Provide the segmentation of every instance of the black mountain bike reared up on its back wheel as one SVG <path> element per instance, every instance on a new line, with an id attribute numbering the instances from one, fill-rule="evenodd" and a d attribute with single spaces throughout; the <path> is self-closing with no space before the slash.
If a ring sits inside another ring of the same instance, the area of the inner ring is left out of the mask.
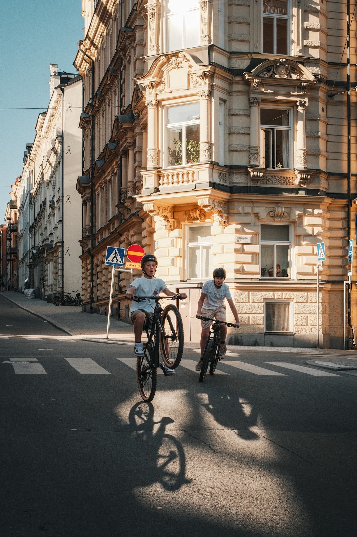
<path id="1" fill-rule="evenodd" d="M 144 401 L 152 401 L 156 391 L 157 368 L 160 367 L 165 376 L 167 368 L 175 369 L 180 364 L 183 352 L 183 325 L 180 311 L 174 304 L 162 309 L 160 300 L 180 299 L 175 296 L 136 296 L 135 302 L 154 300 L 154 317 L 150 331 L 145 329 L 147 342 L 144 344 L 144 355 L 136 360 L 136 376 L 140 395 Z M 163 365 L 159 361 L 159 351 Z"/>

